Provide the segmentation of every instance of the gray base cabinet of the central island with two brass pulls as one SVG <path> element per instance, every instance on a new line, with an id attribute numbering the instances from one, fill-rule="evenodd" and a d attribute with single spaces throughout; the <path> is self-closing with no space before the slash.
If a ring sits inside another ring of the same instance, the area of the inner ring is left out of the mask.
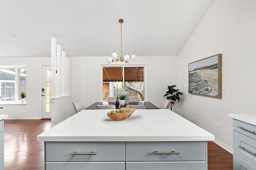
<path id="1" fill-rule="evenodd" d="M 45 142 L 46 170 L 207 170 L 207 142 Z"/>

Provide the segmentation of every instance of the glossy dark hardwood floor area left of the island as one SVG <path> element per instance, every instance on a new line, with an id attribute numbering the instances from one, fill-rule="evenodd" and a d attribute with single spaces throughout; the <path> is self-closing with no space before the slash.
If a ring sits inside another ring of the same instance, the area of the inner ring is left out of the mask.
<path id="1" fill-rule="evenodd" d="M 50 125 L 50 119 L 4 120 L 4 170 L 43 170 L 44 143 L 36 136 Z"/>

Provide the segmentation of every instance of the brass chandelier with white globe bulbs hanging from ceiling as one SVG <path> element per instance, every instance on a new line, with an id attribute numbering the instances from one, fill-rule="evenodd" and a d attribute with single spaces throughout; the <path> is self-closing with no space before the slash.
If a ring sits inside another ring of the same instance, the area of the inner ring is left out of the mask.
<path id="1" fill-rule="evenodd" d="M 122 23 L 124 22 L 123 19 L 119 19 L 119 23 L 121 24 L 121 56 L 119 57 L 117 53 L 112 53 L 111 57 L 112 58 L 108 58 L 108 63 L 112 63 L 113 61 L 121 61 L 121 62 L 125 62 L 127 64 L 130 63 L 130 59 L 135 60 L 136 59 L 136 55 L 125 55 L 124 57 L 122 56 Z"/>

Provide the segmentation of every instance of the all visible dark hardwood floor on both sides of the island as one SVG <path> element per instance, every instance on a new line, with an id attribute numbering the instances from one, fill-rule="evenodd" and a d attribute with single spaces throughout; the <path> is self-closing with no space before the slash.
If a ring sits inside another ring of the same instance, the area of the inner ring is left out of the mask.
<path id="1" fill-rule="evenodd" d="M 4 120 L 5 170 L 44 170 L 44 144 L 36 136 L 50 125 L 50 119 Z M 232 169 L 233 155 L 208 142 L 208 170 Z"/>

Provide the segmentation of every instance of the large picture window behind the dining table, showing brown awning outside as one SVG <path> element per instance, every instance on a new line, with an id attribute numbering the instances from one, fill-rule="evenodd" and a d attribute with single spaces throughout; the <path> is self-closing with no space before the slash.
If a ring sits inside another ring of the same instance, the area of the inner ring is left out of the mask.
<path id="1" fill-rule="evenodd" d="M 144 66 L 104 66 L 102 100 L 128 92 L 129 97 L 145 99 Z"/>

